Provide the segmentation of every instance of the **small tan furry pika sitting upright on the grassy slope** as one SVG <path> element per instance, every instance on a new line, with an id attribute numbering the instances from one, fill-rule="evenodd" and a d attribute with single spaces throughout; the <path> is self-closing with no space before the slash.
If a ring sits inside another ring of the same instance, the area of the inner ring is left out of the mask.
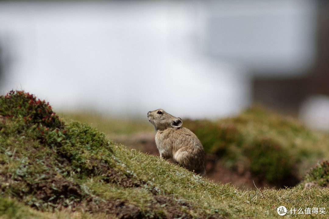
<path id="1" fill-rule="evenodd" d="M 203 146 L 193 132 L 181 127 L 181 118 L 158 109 L 149 111 L 147 119 L 155 128 L 155 143 L 160 158 L 171 158 L 186 169 L 205 175 Z"/>

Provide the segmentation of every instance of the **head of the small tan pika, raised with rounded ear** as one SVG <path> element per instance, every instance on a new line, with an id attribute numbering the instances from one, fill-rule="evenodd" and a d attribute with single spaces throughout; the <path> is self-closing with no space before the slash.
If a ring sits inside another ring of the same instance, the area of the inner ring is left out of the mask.
<path id="1" fill-rule="evenodd" d="M 181 118 L 174 117 L 162 109 L 149 111 L 147 119 L 154 126 L 155 130 L 164 130 L 171 127 L 179 128 L 183 124 Z"/>

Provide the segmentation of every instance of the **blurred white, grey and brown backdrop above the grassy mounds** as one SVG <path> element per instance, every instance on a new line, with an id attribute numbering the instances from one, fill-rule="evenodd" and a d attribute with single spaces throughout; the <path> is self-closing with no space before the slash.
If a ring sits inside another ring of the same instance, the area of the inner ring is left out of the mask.
<path id="1" fill-rule="evenodd" d="M 320 0 L 0 1 L 0 94 L 130 118 L 260 103 L 328 130 L 328 23 Z"/>

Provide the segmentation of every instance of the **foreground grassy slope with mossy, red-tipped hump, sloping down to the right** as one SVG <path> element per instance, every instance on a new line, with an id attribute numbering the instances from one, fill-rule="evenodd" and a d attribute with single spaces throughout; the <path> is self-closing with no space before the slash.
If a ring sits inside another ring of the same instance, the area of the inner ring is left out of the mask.
<path id="1" fill-rule="evenodd" d="M 279 206 L 329 202 L 320 188 L 214 184 L 89 125 L 61 120 L 22 91 L 0 97 L 0 115 L 0 218 L 281 218 Z"/>

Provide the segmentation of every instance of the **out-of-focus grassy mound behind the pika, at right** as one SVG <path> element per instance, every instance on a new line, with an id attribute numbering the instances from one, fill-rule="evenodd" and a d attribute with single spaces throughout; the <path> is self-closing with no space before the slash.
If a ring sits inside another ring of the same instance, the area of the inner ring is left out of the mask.
<path id="1" fill-rule="evenodd" d="M 329 156 L 328 135 L 260 107 L 215 122 L 183 122 L 198 136 L 206 153 L 280 187 L 295 185 L 314 163 Z"/>

